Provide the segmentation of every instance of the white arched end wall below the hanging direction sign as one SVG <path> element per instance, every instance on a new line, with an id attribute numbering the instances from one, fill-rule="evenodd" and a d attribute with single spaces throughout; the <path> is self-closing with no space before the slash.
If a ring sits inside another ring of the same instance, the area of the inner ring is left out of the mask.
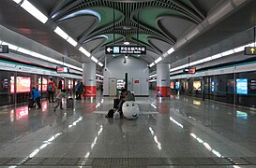
<path id="1" fill-rule="evenodd" d="M 124 78 L 128 73 L 128 91 L 133 91 L 134 80 L 140 78 L 142 82 L 141 91 L 134 92 L 135 95 L 148 95 L 148 76 L 149 69 L 147 64 L 139 59 L 128 57 L 127 63 L 124 63 L 124 57 L 113 59 L 110 63 L 107 63 L 107 69 L 103 71 L 103 95 L 109 95 L 109 78 Z"/>

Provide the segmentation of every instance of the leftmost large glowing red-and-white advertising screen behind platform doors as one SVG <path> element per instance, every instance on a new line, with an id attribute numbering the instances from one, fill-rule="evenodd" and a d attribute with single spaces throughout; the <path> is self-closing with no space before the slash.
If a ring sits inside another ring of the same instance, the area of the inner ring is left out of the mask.
<path id="1" fill-rule="evenodd" d="M 17 93 L 30 92 L 31 79 L 30 77 L 17 77 Z M 10 77 L 10 92 L 14 93 L 14 77 Z"/>

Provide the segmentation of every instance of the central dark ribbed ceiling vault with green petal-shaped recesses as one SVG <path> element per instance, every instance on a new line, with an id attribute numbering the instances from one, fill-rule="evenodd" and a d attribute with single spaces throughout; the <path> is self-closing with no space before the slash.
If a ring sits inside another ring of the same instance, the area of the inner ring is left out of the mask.
<path id="1" fill-rule="evenodd" d="M 58 11 L 53 13 L 54 21 L 59 22 L 72 16 L 81 16 L 83 12 L 98 18 L 97 25 L 92 28 L 86 24 L 79 23 L 75 28 L 77 40 L 86 44 L 89 39 L 97 36 L 108 36 L 107 41 L 102 45 L 98 44 L 96 49 L 103 49 L 105 45 L 115 44 L 116 41 L 135 42 L 135 44 L 145 45 L 149 50 L 157 54 L 162 54 L 167 49 L 159 48 L 150 38 L 160 40 L 164 46 L 173 46 L 179 35 L 188 29 L 190 25 L 196 25 L 205 18 L 203 14 L 193 6 L 190 1 L 175 0 L 155 0 L 155 1 L 113 1 L 113 0 L 79 0 L 63 3 L 58 7 Z M 169 19 L 181 21 L 177 26 L 166 25 Z M 79 20 L 77 20 L 79 21 Z M 83 21 L 84 22 L 84 21 Z M 72 23 L 63 25 L 68 30 Z M 75 24 L 76 25 L 76 24 Z M 116 36 L 111 38 L 110 36 Z M 92 49 L 92 48 L 88 48 Z"/>

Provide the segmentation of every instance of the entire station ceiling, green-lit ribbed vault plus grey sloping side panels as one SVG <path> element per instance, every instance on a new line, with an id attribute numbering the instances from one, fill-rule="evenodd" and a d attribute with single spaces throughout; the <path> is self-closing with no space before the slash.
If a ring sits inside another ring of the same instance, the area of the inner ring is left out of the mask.
<path id="1" fill-rule="evenodd" d="M 91 62 L 91 59 L 56 35 L 53 32 L 56 26 L 78 41 L 101 63 L 105 62 L 105 46 L 123 45 L 128 41 L 130 45 L 147 47 L 146 55 L 130 56 L 150 64 L 183 39 L 189 31 L 202 24 L 216 7 L 228 1 L 30 0 L 50 19 L 43 24 L 12 0 L 1 0 L 0 23 L 80 63 Z M 177 62 L 255 26 L 254 7 L 256 2 L 247 0 L 242 7 L 237 7 L 221 21 L 205 28 L 203 33 L 182 48 L 176 49 L 174 57 L 167 56 L 163 62 Z M 118 56 L 107 55 L 107 60 L 109 62 Z"/>

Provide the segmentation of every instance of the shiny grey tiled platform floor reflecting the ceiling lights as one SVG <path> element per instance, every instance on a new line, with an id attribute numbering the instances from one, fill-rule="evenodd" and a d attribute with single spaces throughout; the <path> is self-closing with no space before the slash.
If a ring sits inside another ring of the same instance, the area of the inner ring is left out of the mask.
<path id="1" fill-rule="evenodd" d="M 105 118 L 113 97 L 56 112 L 47 101 L 2 108 L 0 166 L 256 166 L 255 112 L 176 95 L 136 103 L 135 120 Z"/>

